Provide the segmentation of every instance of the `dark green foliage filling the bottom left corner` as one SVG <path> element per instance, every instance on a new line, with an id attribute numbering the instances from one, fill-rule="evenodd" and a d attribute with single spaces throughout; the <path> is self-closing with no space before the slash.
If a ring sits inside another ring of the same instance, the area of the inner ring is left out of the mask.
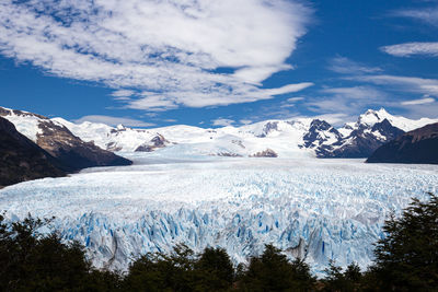
<path id="1" fill-rule="evenodd" d="M 81 245 L 37 232 L 49 222 L 28 215 L 7 224 L 0 215 L 0 291 L 112 290 L 106 288 L 117 282 L 116 276 L 92 270 Z"/>

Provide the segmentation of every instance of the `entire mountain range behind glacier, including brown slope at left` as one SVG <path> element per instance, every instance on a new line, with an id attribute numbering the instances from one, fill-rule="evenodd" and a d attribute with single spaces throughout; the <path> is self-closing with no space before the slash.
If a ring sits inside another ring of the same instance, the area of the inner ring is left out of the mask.
<path id="1" fill-rule="evenodd" d="M 49 119 L 1 107 L 0 116 L 51 155 L 73 162 L 76 168 L 126 163 L 111 152 L 152 152 L 159 149 L 181 155 L 368 157 L 401 135 L 438 122 L 438 119 L 414 120 L 393 116 L 383 108 L 369 109 L 356 122 L 347 122 L 341 128 L 312 118 L 266 120 L 216 129 L 184 125 L 136 129 L 89 121 L 78 125 L 64 118 Z M 103 150 L 97 151 L 99 148 Z M 85 153 L 81 153 L 83 149 L 87 149 Z M 100 159 L 93 160 L 96 151 Z"/>

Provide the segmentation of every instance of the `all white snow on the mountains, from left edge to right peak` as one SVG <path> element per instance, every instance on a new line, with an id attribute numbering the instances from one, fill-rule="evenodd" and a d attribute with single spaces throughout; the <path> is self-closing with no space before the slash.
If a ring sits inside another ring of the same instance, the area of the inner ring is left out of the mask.
<path id="1" fill-rule="evenodd" d="M 332 147 L 338 149 L 338 137 L 330 130 L 318 133 L 318 140 L 312 141 L 308 148 L 303 147 L 303 138 L 309 133 L 312 122 L 311 118 L 296 118 L 291 120 L 265 120 L 242 127 L 223 127 L 223 128 L 199 128 L 185 125 L 175 125 L 152 129 L 132 129 L 123 125 L 111 127 L 104 124 L 84 121 L 82 124 L 73 124 L 62 118 L 42 119 L 39 116 L 26 113 L 24 115 L 5 116 L 11 120 L 18 130 L 32 140 L 36 141 L 39 122 L 54 121 L 57 125 L 66 126 L 74 136 L 78 136 L 85 142 L 93 141 L 102 149 L 110 151 L 134 152 L 140 145 L 151 145 L 151 140 L 161 135 L 165 140 L 170 141 L 166 147 L 175 147 L 175 149 L 184 150 L 197 155 L 232 155 L 232 156 L 251 156 L 266 149 L 272 149 L 279 157 L 314 157 L 315 151 L 322 147 Z M 25 113 L 25 112 L 23 112 Z M 28 115 L 27 115 L 28 114 Z M 348 138 L 353 130 L 359 127 L 366 127 L 371 130 L 376 122 L 388 119 L 393 126 L 402 130 L 412 130 L 423 127 L 427 124 L 438 121 L 434 119 L 423 118 L 419 120 L 411 120 L 404 117 L 392 116 L 383 108 L 379 110 L 367 110 L 361 115 L 357 122 L 346 124 L 338 129 L 344 139 Z M 381 141 L 384 141 L 378 131 L 372 132 Z M 176 147 L 176 144 L 178 147 Z M 342 141 L 342 144 L 345 144 Z"/>

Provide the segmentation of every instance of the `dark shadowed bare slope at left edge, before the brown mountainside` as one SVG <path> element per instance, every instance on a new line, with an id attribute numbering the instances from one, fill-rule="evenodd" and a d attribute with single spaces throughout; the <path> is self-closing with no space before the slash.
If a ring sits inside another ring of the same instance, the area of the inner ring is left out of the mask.
<path id="1" fill-rule="evenodd" d="M 25 180 L 65 176 L 64 166 L 49 153 L 0 117 L 0 188 Z"/>

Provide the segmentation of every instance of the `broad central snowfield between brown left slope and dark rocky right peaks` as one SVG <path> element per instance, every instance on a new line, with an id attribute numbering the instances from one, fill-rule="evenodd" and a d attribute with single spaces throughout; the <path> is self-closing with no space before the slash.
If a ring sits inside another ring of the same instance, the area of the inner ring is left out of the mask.
<path id="1" fill-rule="evenodd" d="M 218 155 L 230 153 L 249 156 L 256 152 L 275 149 L 284 157 L 314 156 L 312 150 L 300 149 L 302 137 L 309 129 L 311 119 L 296 121 L 267 120 L 243 127 L 223 127 L 204 129 L 185 125 L 154 129 L 130 129 L 123 126 L 112 128 L 103 124 L 82 122 L 76 125 L 61 118 L 54 120 L 68 127 L 82 140 L 94 143 L 103 149 L 118 149 L 134 152 L 139 145 L 148 143 L 158 133 L 173 144 L 184 144 L 192 152 L 201 155 Z M 267 124 L 276 122 L 277 129 L 265 132 Z"/>

